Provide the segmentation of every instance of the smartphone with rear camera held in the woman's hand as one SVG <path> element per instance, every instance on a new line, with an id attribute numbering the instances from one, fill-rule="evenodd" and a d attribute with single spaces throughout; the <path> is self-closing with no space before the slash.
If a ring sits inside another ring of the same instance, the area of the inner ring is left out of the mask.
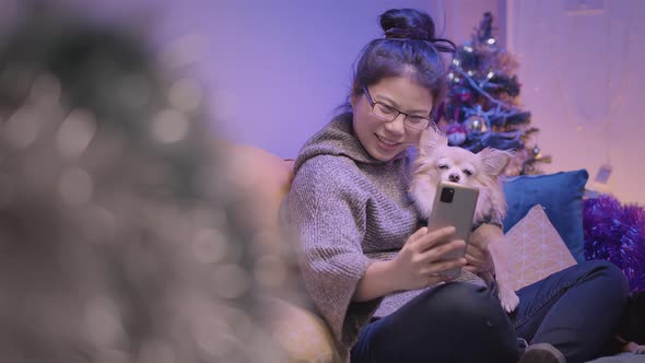
<path id="1" fill-rule="evenodd" d="M 455 238 L 464 239 L 468 243 L 478 197 L 478 188 L 449 182 L 439 183 L 434 198 L 432 213 L 427 219 L 427 230 L 435 231 L 453 225 L 457 230 Z M 465 253 L 466 250 L 455 251 L 454 254 L 446 255 L 445 258 L 459 258 Z M 459 269 L 453 269 L 444 273 L 456 278 L 460 271 Z"/>

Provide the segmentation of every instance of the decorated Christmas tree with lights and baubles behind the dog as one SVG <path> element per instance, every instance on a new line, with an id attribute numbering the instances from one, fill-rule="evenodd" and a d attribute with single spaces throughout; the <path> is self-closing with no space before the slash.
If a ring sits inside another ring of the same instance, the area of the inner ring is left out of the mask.
<path id="1" fill-rule="evenodd" d="M 520 108 L 516 59 L 497 45 L 493 16 L 485 13 L 470 42 L 457 47 L 448 73 L 449 93 L 439 127 L 452 145 L 472 152 L 515 150 L 506 175 L 540 174 L 542 155 L 531 136 L 530 113 Z"/>

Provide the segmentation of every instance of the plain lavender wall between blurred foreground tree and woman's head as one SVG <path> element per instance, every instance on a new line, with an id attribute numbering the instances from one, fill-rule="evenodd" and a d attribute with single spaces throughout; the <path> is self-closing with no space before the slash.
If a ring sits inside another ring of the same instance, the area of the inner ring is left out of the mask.
<path id="1" fill-rule="evenodd" d="M 390 8 L 430 12 L 439 35 L 470 36 L 501 0 L 57 0 L 97 21 L 134 22 L 163 57 L 206 87 L 228 139 L 283 157 L 345 101 L 360 49 Z M 0 0 L 0 23 L 21 0 Z M 446 21 L 447 20 L 447 21 Z"/>

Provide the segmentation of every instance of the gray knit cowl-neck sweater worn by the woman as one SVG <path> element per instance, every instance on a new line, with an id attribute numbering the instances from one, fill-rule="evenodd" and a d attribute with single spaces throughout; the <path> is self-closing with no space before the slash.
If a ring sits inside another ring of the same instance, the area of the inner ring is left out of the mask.
<path id="1" fill-rule="evenodd" d="M 352 302 L 370 264 L 392 258 L 422 226 L 407 192 L 409 167 L 408 152 L 389 162 L 372 157 L 354 136 L 352 114 L 327 125 L 296 159 L 282 215 L 300 234 L 304 284 L 343 349 L 373 316 L 386 316 L 423 292 Z"/>

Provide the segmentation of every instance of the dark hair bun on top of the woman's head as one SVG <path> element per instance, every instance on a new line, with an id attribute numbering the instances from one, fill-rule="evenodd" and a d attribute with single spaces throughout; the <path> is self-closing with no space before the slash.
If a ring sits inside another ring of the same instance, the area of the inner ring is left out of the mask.
<path id="1" fill-rule="evenodd" d="M 391 9 L 380 15 L 380 27 L 386 38 L 434 39 L 434 21 L 414 9 Z"/>

